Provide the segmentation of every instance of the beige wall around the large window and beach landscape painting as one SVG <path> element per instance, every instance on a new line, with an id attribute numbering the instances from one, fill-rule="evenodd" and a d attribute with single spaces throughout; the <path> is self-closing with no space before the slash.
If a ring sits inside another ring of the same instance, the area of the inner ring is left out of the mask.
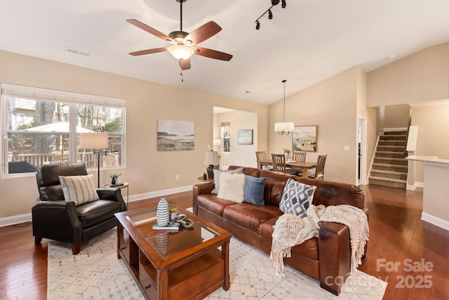
<path id="1" fill-rule="evenodd" d="M 4 51 L 0 65 L 1 82 L 126 99 L 126 168 L 119 172 L 130 183 L 130 195 L 196 183 L 205 169 L 204 152 L 213 143 L 213 106 L 257 113 L 257 141 L 267 140 L 267 105 Z M 157 119 L 194 122 L 195 150 L 158 152 Z M 100 181 L 109 181 L 112 171 L 100 171 Z M 0 178 L 0 190 L 0 218 L 31 212 L 37 195 L 34 176 Z"/>

